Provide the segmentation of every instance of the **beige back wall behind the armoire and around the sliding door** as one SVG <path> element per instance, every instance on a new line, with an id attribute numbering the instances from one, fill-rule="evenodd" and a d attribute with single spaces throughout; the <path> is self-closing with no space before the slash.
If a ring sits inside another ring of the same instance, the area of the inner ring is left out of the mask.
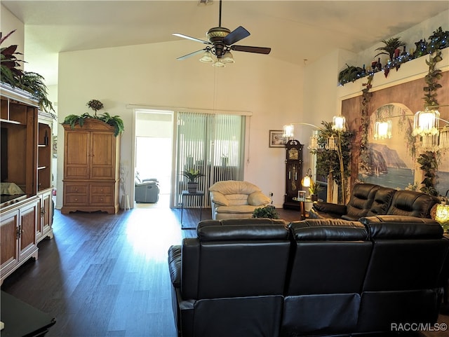
<path id="1" fill-rule="evenodd" d="M 285 150 L 269 148 L 268 136 L 269 130 L 281 130 L 302 114 L 302 67 L 239 52 L 234 53 L 236 63 L 225 69 L 203 64 L 197 57 L 175 60 L 189 48 L 189 41 L 175 41 L 60 53 L 59 121 L 83 114 L 86 102 L 100 99 L 105 111 L 125 123 L 121 160 L 131 163 L 133 110 L 128 104 L 251 111 L 245 179 L 265 193 L 274 192 L 274 204 L 282 205 Z M 58 135 L 63 144 L 61 125 Z M 62 206 L 63 151 L 58 146 L 56 207 Z"/>

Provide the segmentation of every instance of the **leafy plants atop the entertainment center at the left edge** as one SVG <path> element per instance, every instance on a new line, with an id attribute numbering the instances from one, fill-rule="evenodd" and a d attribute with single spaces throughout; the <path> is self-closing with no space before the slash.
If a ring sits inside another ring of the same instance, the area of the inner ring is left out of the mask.
<path id="1" fill-rule="evenodd" d="M 3 43 L 6 39 L 8 39 L 11 34 L 15 32 L 15 29 L 6 34 L 5 37 L 2 37 L 0 32 L 0 44 Z M 11 85 L 12 88 L 18 88 L 27 92 L 30 97 L 36 99 L 39 102 L 39 107 L 51 114 L 53 118 L 55 115 L 51 111 L 55 111 L 53 109 L 53 104 L 47 98 L 48 92 L 47 87 L 43 83 L 43 76 L 34 73 L 32 71 L 22 71 L 20 69 L 20 62 L 25 62 L 23 60 L 19 60 L 16 55 L 22 55 L 17 50 L 17 45 L 11 45 L 8 47 L 1 47 L 1 71 L 0 71 L 0 81 Z"/>

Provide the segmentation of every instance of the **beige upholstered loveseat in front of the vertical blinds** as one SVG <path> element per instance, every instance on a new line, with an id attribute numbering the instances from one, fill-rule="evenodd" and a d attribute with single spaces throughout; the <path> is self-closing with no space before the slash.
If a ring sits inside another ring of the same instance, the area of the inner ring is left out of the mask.
<path id="1" fill-rule="evenodd" d="M 212 219 L 250 218 L 254 209 L 271 202 L 260 188 L 248 181 L 217 181 L 210 186 Z"/>

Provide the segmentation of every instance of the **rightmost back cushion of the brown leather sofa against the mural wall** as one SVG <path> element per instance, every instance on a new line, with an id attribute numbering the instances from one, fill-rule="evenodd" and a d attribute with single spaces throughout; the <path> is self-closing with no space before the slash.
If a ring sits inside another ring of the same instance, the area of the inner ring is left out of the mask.
<path id="1" fill-rule="evenodd" d="M 387 214 L 430 218 L 430 209 L 437 202 L 435 197 L 421 192 L 396 191 Z"/>

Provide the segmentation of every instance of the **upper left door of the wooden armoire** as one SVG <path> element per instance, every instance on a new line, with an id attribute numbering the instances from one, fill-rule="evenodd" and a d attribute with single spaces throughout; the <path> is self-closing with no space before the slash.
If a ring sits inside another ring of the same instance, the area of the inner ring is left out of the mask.
<path id="1" fill-rule="evenodd" d="M 90 132 L 83 132 L 82 130 L 66 130 L 64 145 L 65 179 L 89 178 L 90 141 Z"/>

